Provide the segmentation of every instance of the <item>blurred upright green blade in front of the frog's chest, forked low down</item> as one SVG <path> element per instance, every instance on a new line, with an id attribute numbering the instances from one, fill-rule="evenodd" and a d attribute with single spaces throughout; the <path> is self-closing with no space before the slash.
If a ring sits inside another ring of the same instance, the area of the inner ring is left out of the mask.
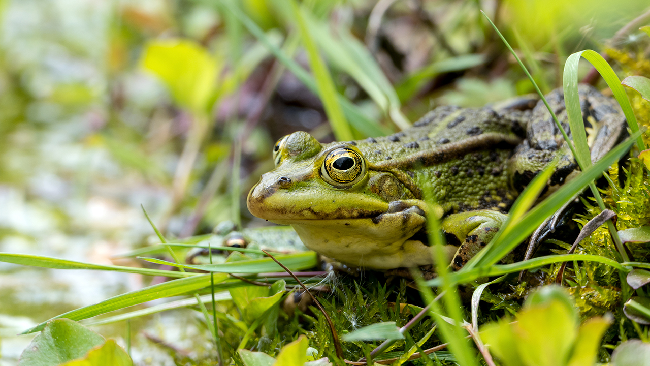
<path id="1" fill-rule="evenodd" d="M 424 193 L 424 202 L 427 205 L 428 212 L 435 212 L 435 196 L 432 192 L 432 186 L 430 182 L 421 180 L 422 192 Z M 441 307 L 437 302 L 434 302 L 434 298 L 431 296 L 431 290 L 424 290 L 422 288 L 422 279 L 421 275 L 414 273 L 413 277 L 419 279 L 418 289 L 424 298 L 424 294 L 428 296 L 425 302 L 431 304 L 431 313 L 435 315 L 436 322 L 440 327 L 441 332 L 443 333 L 444 339 L 450 343 L 450 348 L 454 354 L 458 355 L 458 363 L 461 366 L 464 365 L 477 365 L 476 357 L 474 356 L 473 350 L 469 347 L 469 344 L 464 339 L 463 330 L 461 329 L 460 324 L 463 323 L 461 316 L 461 305 L 460 298 L 458 296 L 458 291 L 456 289 L 456 284 L 452 283 L 450 280 L 450 272 L 448 268 L 448 262 L 445 260 L 446 256 L 443 254 L 443 247 L 445 246 L 445 238 L 442 236 L 442 230 L 440 223 L 435 215 L 430 215 L 429 219 L 426 220 L 426 230 L 429 236 L 429 242 L 433 243 L 432 246 L 432 255 L 434 256 L 435 264 L 435 273 L 438 274 L 438 278 L 442 280 L 442 286 L 440 292 L 443 292 L 443 301 L 445 302 L 445 309 L 448 312 L 449 317 L 452 318 L 453 324 L 441 324 L 439 321 L 441 319 Z M 424 290 L 424 292 L 423 292 Z"/>

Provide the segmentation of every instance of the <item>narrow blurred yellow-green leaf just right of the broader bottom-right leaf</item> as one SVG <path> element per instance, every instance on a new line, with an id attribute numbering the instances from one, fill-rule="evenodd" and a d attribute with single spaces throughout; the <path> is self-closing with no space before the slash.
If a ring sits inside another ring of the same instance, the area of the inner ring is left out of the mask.
<path id="1" fill-rule="evenodd" d="M 593 365 L 603 334 L 612 324 L 611 318 L 595 317 L 580 326 L 567 366 Z"/>

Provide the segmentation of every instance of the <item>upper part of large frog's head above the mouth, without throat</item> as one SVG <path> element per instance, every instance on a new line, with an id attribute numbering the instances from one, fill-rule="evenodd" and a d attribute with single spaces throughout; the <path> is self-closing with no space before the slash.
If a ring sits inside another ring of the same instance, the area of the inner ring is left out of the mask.
<path id="1" fill-rule="evenodd" d="M 248 195 L 253 215 L 276 223 L 377 216 L 388 203 L 368 190 L 369 163 L 352 144 L 322 145 L 294 132 L 273 148 L 276 169 Z"/>

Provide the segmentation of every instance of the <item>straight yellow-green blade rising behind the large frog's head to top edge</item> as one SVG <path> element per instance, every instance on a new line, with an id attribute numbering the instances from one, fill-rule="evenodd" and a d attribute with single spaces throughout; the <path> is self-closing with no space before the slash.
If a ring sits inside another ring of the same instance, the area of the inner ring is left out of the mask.
<path id="1" fill-rule="evenodd" d="M 298 29 L 300 30 L 302 45 L 304 46 L 305 51 L 307 51 L 309 67 L 316 79 L 318 95 L 320 96 L 320 100 L 322 100 L 325 113 L 330 120 L 331 130 L 334 132 L 335 138 L 339 141 L 352 140 L 354 138 L 352 135 L 352 128 L 350 128 L 348 121 L 343 115 L 343 110 L 341 109 L 341 105 L 337 98 L 338 93 L 334 86 L 334 81 L 331 78 L 330 70 L 328 70 L 327 65 L 320 57 L 316 42 L 307 27 L 305 21 L 305 8 L 298 7 L 295 0 L 289 0 L 289 3 L 291 3 L 291 8 L 293 10 L 294 21 L 296 21 Z"/>

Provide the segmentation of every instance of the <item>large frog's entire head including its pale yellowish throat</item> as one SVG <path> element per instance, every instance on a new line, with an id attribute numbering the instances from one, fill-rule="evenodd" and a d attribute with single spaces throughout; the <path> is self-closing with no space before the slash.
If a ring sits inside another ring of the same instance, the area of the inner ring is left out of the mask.
<path id="1" fill-rule="evenodd" d="M 322 145 L 295 132 L 278 140 L 273 157 L 276 168 L 248 194 L 253 215 L 292 225 L 309 249 L 348 264 L 387 269 L 430 262 L 428 250 L 413 249 L 420 242 L 405 244 L 425 223 L 421 209 L 402 201 L 415 201 L 412 193 L 354 143 Z"/>

